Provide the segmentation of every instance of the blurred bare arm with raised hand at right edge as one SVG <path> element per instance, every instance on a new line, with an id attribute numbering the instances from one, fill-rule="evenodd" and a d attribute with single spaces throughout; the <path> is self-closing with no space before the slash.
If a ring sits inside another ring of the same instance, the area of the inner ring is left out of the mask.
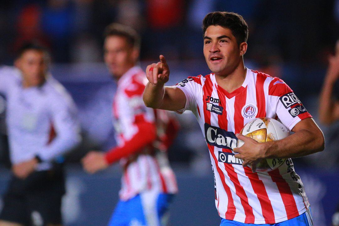
<path id="1" fill-rule="evenodd" d="M 333 89 L 339 77 L 339 40 L 336 53 L 328 59 L 328 69 L 321 89 L 319 100 L 319 119 L 325 125 L 330 125 L 339 119 L 339 101 L 333 100 Z"/>

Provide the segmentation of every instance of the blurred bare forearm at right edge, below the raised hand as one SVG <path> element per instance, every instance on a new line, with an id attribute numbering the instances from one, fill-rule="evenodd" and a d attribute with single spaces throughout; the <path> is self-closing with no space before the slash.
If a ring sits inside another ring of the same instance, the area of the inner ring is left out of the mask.
<path id="1" fill-rule="evenodd" d="M 334 82 L 325 80 L 320 93 L 319 119 L 324 124 L 330 124 L 334 121 L 334 102 L 332 100 Z"/>

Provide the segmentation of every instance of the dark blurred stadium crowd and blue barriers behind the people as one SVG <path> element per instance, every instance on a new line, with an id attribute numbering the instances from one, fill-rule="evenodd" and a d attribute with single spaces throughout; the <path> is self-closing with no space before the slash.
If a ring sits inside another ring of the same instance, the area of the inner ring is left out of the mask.
<path id="1" fill-rule="evenodd" d="M 51 50 L 51 73 L 78 106 L 83 142 L 66 156 L 66 226 L 105 225 L 118 200 L 121 170 L 117 164 L 89 176 L 79 163 L 88 150 L 107 150 L 115 144 L 111 106 L 116 84 L 102 63 L 104 27 L 119 22 L 137 29 L 142 36 L 142 67 L 163 54 L 172 85 L 187 76 L 209 73 L 202 53 L 201 21 L 211 11 L 232 11 L 245 18 L 250 29 L 245 65 L 282 78 L 324 131 L 325 151 L 294 163 L 315 225 L 330 225 L 339 202 L 339 124 L 322 125 L 317 111 L 327 56 L 339 37 L 339 0 L 2 1 L 0 64 L 12 65 L 21 44 L 39 40 Z M 4 108 L 0 97 L 1 194 L 9 178 Z M 169 150 L 180 189 L 171 207 L 171 225 L 219 225 L 211 163 L 200 128 L 193 114 L 178 119 L 181 131 Z"/>

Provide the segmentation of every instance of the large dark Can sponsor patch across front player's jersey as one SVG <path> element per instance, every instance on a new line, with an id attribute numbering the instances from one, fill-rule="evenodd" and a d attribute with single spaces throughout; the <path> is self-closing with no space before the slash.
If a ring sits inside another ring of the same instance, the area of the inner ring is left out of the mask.
<path id="1" fill-rule="evenodd" d="M 237 147 L 237 137 L 233 132 L 205 123 L 205 139 L 210 145 L 233 150 Z"/>

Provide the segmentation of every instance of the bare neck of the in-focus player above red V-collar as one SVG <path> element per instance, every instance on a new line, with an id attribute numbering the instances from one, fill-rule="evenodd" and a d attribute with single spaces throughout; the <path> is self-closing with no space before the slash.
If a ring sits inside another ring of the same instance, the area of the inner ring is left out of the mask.
<path id="1" fill-rule="evenodd" d="M 241 60 L 238 66 L 228 73 L 215 73 L 214 75 L 218 85 L 225 89 L 228 93 L 232 93 L 245 81 L 246 67 L 244 66 L 244 61 Z"/>

